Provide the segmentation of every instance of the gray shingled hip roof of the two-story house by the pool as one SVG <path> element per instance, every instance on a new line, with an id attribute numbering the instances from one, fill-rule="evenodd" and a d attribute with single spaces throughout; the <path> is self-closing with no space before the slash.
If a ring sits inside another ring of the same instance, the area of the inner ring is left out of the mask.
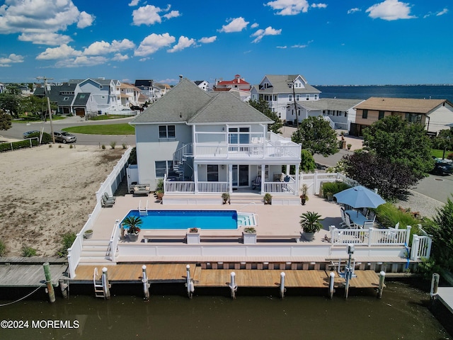
<path id="1" fill-rule="evenodd" d="M 131 124 L 139 123 L 273 123 L 263 113 L 229 93 L 211 94 L 182 79 Z"/>

